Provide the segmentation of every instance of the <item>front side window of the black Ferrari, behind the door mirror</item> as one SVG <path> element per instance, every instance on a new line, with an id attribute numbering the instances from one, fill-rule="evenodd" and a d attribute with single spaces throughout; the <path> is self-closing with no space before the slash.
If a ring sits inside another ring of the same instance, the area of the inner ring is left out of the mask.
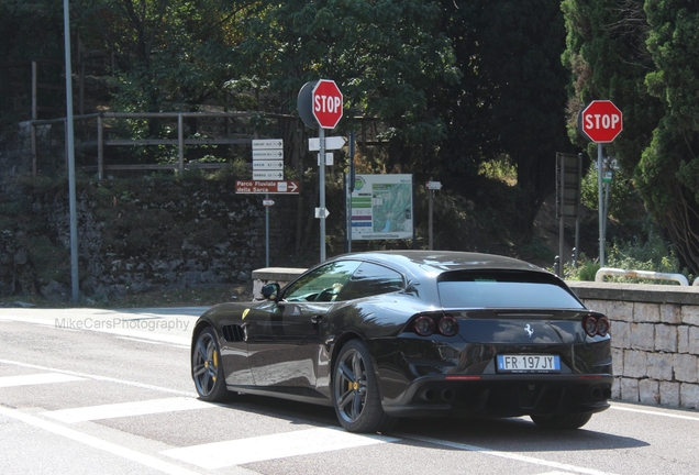
<path id="1" fill-rule="evenodd" d="M 359 264 L 358 261 L 339 261 L 318 267 L 291 284 L 282 298 L 286 301 L 335 301 Z"/>

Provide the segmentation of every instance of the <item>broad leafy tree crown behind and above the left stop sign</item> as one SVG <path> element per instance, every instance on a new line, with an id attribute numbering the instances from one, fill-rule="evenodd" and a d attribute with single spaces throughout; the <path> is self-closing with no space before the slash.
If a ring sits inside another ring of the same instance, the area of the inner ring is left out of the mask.
<path id="1" fill-rule="evenodd" d="M 420 172 L 446 132 L 435 87 L 458 80 L 440 20 L 437 3 L 417 0 L 263 1 L 244 21 L 240 82 L 275 91 L 293 112 L 306 81 L 332 78 L 353 110 L 385 124 L 387 168 Z"/>

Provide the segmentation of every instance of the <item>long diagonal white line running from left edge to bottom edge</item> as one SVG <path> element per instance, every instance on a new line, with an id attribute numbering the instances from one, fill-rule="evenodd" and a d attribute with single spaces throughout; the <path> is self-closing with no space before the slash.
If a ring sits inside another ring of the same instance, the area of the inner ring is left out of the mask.
<path id="1" fill-rule="evenodd" d="M 24 412 L 21 412 L 16 409 L 9 409 L 0 406 L 0 415 L 5 416 L 8 418 L 12 418 L 30 426 L 34 426 L 36 428 L 43 429 L 45 431 L 55 433 L 57 435 L 65 437 L 67 439 L 71 439 L 76 442 L 79 442 L 85 445 L 92 446 L 95 449 L 99 449 L 106 452 L 109 452 L 113 455 L 120 456 L 122 459 L 127 459 L 130 461 L 140 463 L 141 465 L 145 465 L 147 467 L 167 473 L 173 475 L 197 475 L 196 472 L 188 471 L 186 468 L 179 467 L 177 465 L 173 465 L 171 463 L 162 461 L 151 455 L 146 455 L 141 452 L 136 452 L 134 450 L 127 449 L 125 446 L 118 445 L 112 442 L 108 442 L 101 439 L 98 439 L 92 435 L 88 435 L 81 432 L 78 432 L 73 429 L 68 429 L 66 427 L 59 426 L 55 422 L 47 421 L 45 419 L 37 418 L 35 416 L 31 416 Z M 249 473 L 249 472 L 248 472 Z"/>

